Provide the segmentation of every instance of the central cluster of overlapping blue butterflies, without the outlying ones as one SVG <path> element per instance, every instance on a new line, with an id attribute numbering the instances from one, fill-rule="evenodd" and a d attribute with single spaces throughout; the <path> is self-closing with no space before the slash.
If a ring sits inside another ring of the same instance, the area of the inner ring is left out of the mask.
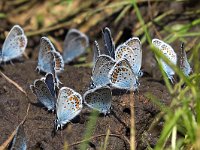
<path id="1" fill-rule="evenodd" d="M 55 53 L 53 45 L 47 38 L 41 39 L 37 69 L 47 74 L 45 77 L 35 80 L 31 85 L 31 90 L 44 107 L 49 111 L 56 111 L 55 126 L 57 130 L 62 129 L 81 112 L 83 103 L 100 113 L 108 114 L 112 101 L 111 87 L 126 90 L 138 88 L 138 78 L 142 75 L 140 71 L 142 63 L 140 40 L 136 37 L 131 38 L 115 50 L 108 28 L 103 30 L 103 38 L 105 43 L 103 53 L 101 53 L 98 43 L 95 42 L 92 81 L 83 97 L 71 88 L 59 89 L 60 81 L 55 75 L 62 71 L 62 57 L 57 52 Z M 48 45 L 48 47 L 44 45 Z M 54 59 L 48 57 L 51 59 L 49 61 L 46 55 L 51 52 Z M 51 65 L 51 63 L 55 65 Z"/>

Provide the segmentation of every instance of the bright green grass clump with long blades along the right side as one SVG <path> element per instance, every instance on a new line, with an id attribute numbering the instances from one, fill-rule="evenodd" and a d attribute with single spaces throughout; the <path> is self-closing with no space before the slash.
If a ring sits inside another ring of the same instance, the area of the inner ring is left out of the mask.
<path id="1" fill-rule="evenodd" d="M 160 149 L 200 149 L 199 145 L 199 124 L 200 124 L 200 74 L 199 74 L 199 45 L 192 48 L 192 61 L 194 62 L 194 72 L 190 77 L 186 77 L 183 72 L 175 65 L 173 65 L 161 52 L 152 47 L 151 37 L 149 35 L 147 26 L 141 16 L 139 8 L 135 0 L 132 1 L 137 15 L 137 18 L 142 26 L 145 34 L 145 39 L 159 63 L 159 58 L 162 58 L 173 70 L 176 72 L 180 81 L 172 86 L 167 79 L 166 74 L 161 69 L 165 84 L 172 95 L 172 102 L 170 106 L 162 106 L 155 97 L 150 97 L 161 108 L 161 113 L 164 113 L 164 127 L 162 129 L 159 140 L 155 150 Z M 198 37 L 199 33 L 189 32 L 190 29 L 199 24 L 199 19 L 191 23 L 179 25 L 172 30 L 171 27 L 166 27 L 165 30 L 170 34 L 165 38 L 168 42 L 177 39 L 187 41 L 184 39 L 187 36 Z M 174 26 L 175 27 L 175 26 Z M 159 63 L 160 64 L 160 63 Z M 183 86 L 185 83 L 185 86 Z M 149 149 L 151 149 L 149 147 Z"/>

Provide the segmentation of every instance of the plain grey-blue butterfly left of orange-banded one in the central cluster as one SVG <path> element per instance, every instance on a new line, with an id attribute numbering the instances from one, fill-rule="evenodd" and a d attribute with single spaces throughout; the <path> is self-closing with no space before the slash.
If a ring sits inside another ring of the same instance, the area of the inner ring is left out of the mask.
<path id="1" fill-rule="evenodd" d="M 114 66 L 115 61 L 110 56 L 100 55 L 97 57 L 94 68 L 92 70 L 92 85 L 91 88 L 96 86 L 105 86 L 110 83 L 108 72 Z"/>

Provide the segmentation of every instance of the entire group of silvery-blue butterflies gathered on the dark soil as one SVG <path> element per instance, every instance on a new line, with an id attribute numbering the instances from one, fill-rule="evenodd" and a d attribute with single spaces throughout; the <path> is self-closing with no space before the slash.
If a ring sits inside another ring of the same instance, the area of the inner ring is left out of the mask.
<path id="1" fill-rule="evenodd" d="M 58 74 L 64 70 L 64 64 L 73 61 L 85 53 L 89 45 L 88 37 L 76 29 L 71 29 L 64 41 L 63 54 L 55 50 L 47 37 L 40 40 L 37 70 L 45 72 L 45 77 L 37 79 L 30 86 L 38 101 L 49 111 L 56 111 L 55 127 L 58 130 L 75 118 L 84 104 L 103 114 L 108 114 L 112 102 L 112 88 L 135 91 L 142 77 L 142 47 L 139 38 L 132 37 L 115 48 L 109 28 L 104 28 L 104 47 L 94 42 L 94 66 L 91 83 L 83 97 L 75 90 L 62 87 Z M 177 65 L 177 55 L 167 43 L 153 39 L 152 44 Z M 0 51 L 0 61 L 11 61 L 20 57 L 26 48 L 27 38 L 23 29 L 15 25 L 9 32 Z M 182 48 L 180 68 L 185 75 L 192 71 L 185 50 Z M 173 82 L 175 72 L 162 59 L 161 65 L 168 78 Z"/>

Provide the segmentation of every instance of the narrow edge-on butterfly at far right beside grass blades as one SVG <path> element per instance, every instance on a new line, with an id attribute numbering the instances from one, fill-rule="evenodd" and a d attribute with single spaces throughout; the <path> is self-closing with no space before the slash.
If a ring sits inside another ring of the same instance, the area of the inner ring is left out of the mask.
<path id="1" fill-rule="evenodd" d="M 184 49 L 184 43 L 181 44 L 181 54 L 180 54 L 180 69 L 186 76 L 192 72 L 192 68 L 187 60 L 187 55 Z"/>

